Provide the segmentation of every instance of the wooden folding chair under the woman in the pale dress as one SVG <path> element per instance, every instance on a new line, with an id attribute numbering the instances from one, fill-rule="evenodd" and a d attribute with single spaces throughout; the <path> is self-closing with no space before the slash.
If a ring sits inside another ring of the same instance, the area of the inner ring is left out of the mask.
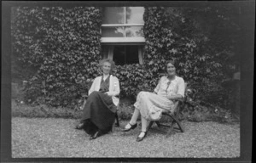
<path id="1" fill-rule="evenodd" d="M 187 83 L 185 83 L 185 94 L 186 94 L 186 91 L 187 91 Z M 181 125 L 181 122 L 179 121 L 180 109 L 183 106 L 183 100 L 184 100 L 184 98 L 177 99 L 174 102 L 173 113 L 171 111 L 167 111 L 167 110 L 162 112 L 162 115 L 166 115 L 167 117 L 171 118 L 171 122 L 169 122 L 169 125 L 161 124 L 160 121 L 150 121 L 148 124 L 148 127 L 147 127 L 147 132 L 151 128 L 151 126 L 153 125 L 154 122 L 156 123 L 156 125 L 158 127 L 161 127 L 161 126 L 169 127 L 169 130 L 166 133 L 166 137 L 171 135 L 172 132 L 174 132 L 174 129 L 177 129 L 180 132 L 184 132 L 183 126 Z M 174 127 L 175 124 L 177 124 L 177 127 Z"/>

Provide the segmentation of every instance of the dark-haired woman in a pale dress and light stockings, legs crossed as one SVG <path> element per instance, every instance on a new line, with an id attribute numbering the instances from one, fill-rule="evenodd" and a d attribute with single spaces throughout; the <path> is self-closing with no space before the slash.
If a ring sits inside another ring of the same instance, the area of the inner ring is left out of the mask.
<path id="1" fill-rule="evenodd" d="M 173 112 L 172 100 L 184 97 L 185 83 L 182 77 L 176 76 L 174 61 L 166 63 L 167 76 L 162 76 L 154 89 L 154 93 L 140 92 L 134 104 L 135 110 L 131 121 L 125 126 L 123 132 L 128 132 L 137 127 L 137 118 L 141 115 L 142 132 L 137 137 L 137 142 L 142 141 L 147 135 L 148 121 L 160 120 L 164 110 Z"/>

